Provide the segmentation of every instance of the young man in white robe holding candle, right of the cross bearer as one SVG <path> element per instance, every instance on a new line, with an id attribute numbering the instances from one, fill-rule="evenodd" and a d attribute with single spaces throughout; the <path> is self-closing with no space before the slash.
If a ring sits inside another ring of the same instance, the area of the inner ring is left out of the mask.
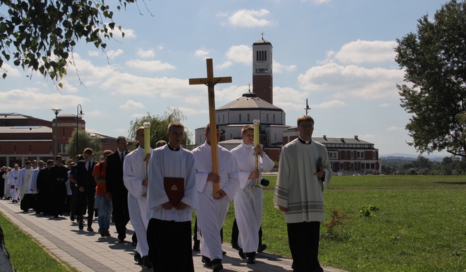
<path id="1" fill-rule="evenodd" d="M 259 228 L 262 223 L 262 198 L 264 192 L 261 187 L 255 187 L 256 178 L 262 178 L 262 171 L 271 171 L 273 161 L 262 150 L 257 143 L 253 148 L 254 127 L 244 126 L 241 129 L 243 142 L 232 149 L 233 158 L 236 160 L 239 170 L 239 190 L 234 196 L 234 214 L 239 229 L 239 255 L 246 254 L 248 264 L 255 263 L 256 250 L 259 247 Z M 256 143 L 254 143 L 256 144 Z M 255 161 L 258 155 L 258 168 L 255 171 Z"/>

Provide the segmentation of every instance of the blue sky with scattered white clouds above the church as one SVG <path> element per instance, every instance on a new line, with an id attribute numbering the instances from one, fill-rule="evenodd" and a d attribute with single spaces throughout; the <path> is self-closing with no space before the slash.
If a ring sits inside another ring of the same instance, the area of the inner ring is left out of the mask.
<path id="1" fill-rule="evenodd" d="M 207 87 L 188 79 L 206 77 L 205 59 L 212 58 L 214 76 L 232 77 L 216 85 L 216 108 L 238 99 L 252 84 L 252 44 L 264 33 L 273 45 L 273 104 L 286 112 L 287 125 L 296 126 L 308 99 L 315 137 L 358 135 L 379 154 L 416 155 L 407 144 L 410 114 L 400 105 L 396 84 L 403 84 L 403 70 L 394 47 L 417 31 L 417 19 L 432 19 L 445 2 L 139 0 L 114 8 L 124 37 L 115 31 L 106 53 L 77 44 L 62 89 L 4 62 L 0 112 L 52 120 L 52 108 L 77 114 L 81 105 L 86 130 L 118 137 L 128 136 L 130 121 L 147 112 L 177 108 L 194 134 L 209 121 Z"/>

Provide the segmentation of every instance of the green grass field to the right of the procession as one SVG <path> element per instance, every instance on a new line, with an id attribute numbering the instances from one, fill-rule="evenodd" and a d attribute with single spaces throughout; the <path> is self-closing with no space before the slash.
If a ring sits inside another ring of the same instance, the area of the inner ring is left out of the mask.
<path id="1" fill-rule="evenodd" d="M 291 257 L 281 212 L 273 208 L 275 177 L 264 191 L 266 251 Z M 344 225 L 321 225 L 319 260 L 348 271 L 466 271 L 464 176 L 334 176 L 324 192 L 326 222 L 332 210 Z M 375 216 L 360 216 L 375 205 Z M 224 226 L 231 239 L 233 205 Z"/>

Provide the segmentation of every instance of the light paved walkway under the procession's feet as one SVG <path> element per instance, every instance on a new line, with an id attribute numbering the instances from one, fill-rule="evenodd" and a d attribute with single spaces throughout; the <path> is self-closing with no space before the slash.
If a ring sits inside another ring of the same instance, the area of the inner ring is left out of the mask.
<path id="1" fill-rule="evenodd" d="M 78 271 L 152 271 L 134 262 L 134 246 L 131 246 L 133 228 L 127 230 L 127 242 L 118 243 L 115 226 L 111 226 L 111 237 L 101 238 L 97 232 L 78 230 L 78 225 L 69 217 L 54 219 L 50 216 L 36 216 L 34 212 L 23 213 L 19 203 L 0 200 L 0 210 L 24 232 L 37 239 L 63 262 L 67 262 Z M 98 228 L 97 219 L 93 228 Z M 86 229 L 86 228 L 85 228 Z M 5 237 L 8 239 L 8 237 Z M 7 248 L 8 249 L 8 248 Z M 238 251 L 230 244 L 223 244 L 227 255 L 223 257 L 222 271 L 292 271 L 291 260 L 258 253 L 255 264 L 246 264 L 241 260 Z M 193 251 L 195 271 L 212 271 L 202 265 L 200 253 Z M 326 272 L 342 272 L 341 270 L 324 267 Z"/>

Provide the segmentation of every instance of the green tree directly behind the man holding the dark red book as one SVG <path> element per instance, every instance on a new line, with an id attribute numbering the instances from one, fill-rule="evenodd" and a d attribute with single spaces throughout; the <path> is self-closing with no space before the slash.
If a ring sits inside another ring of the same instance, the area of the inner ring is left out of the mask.
<path id="1" fill-rule="evenodd" d="M 170 109 L 166 112 L 163 112 L 163 115 L 151 115 L 150 112 L 147 112 L 147 115 L 136 118 L 136 120 L 129 122 L 129 139 L 136 138 L 136 128 L 139 126 L 143 126 L 145 122 L 150 122 L 150 146 L 152 148 L 155 147 L 157 141 L 163 139 L 164 141 L 168 142 L 167 138 L 167 128 L 171 122 L 179 121 L 182 122 L 186 120 L 183 113 L 180 112 L 177 108 Z M 187 129 L 184 128 L 184 139 L 182 141 L 182 145 L 186 148 L 190 148 L 193 142 L 191 142 L 192 133 Z"/>

